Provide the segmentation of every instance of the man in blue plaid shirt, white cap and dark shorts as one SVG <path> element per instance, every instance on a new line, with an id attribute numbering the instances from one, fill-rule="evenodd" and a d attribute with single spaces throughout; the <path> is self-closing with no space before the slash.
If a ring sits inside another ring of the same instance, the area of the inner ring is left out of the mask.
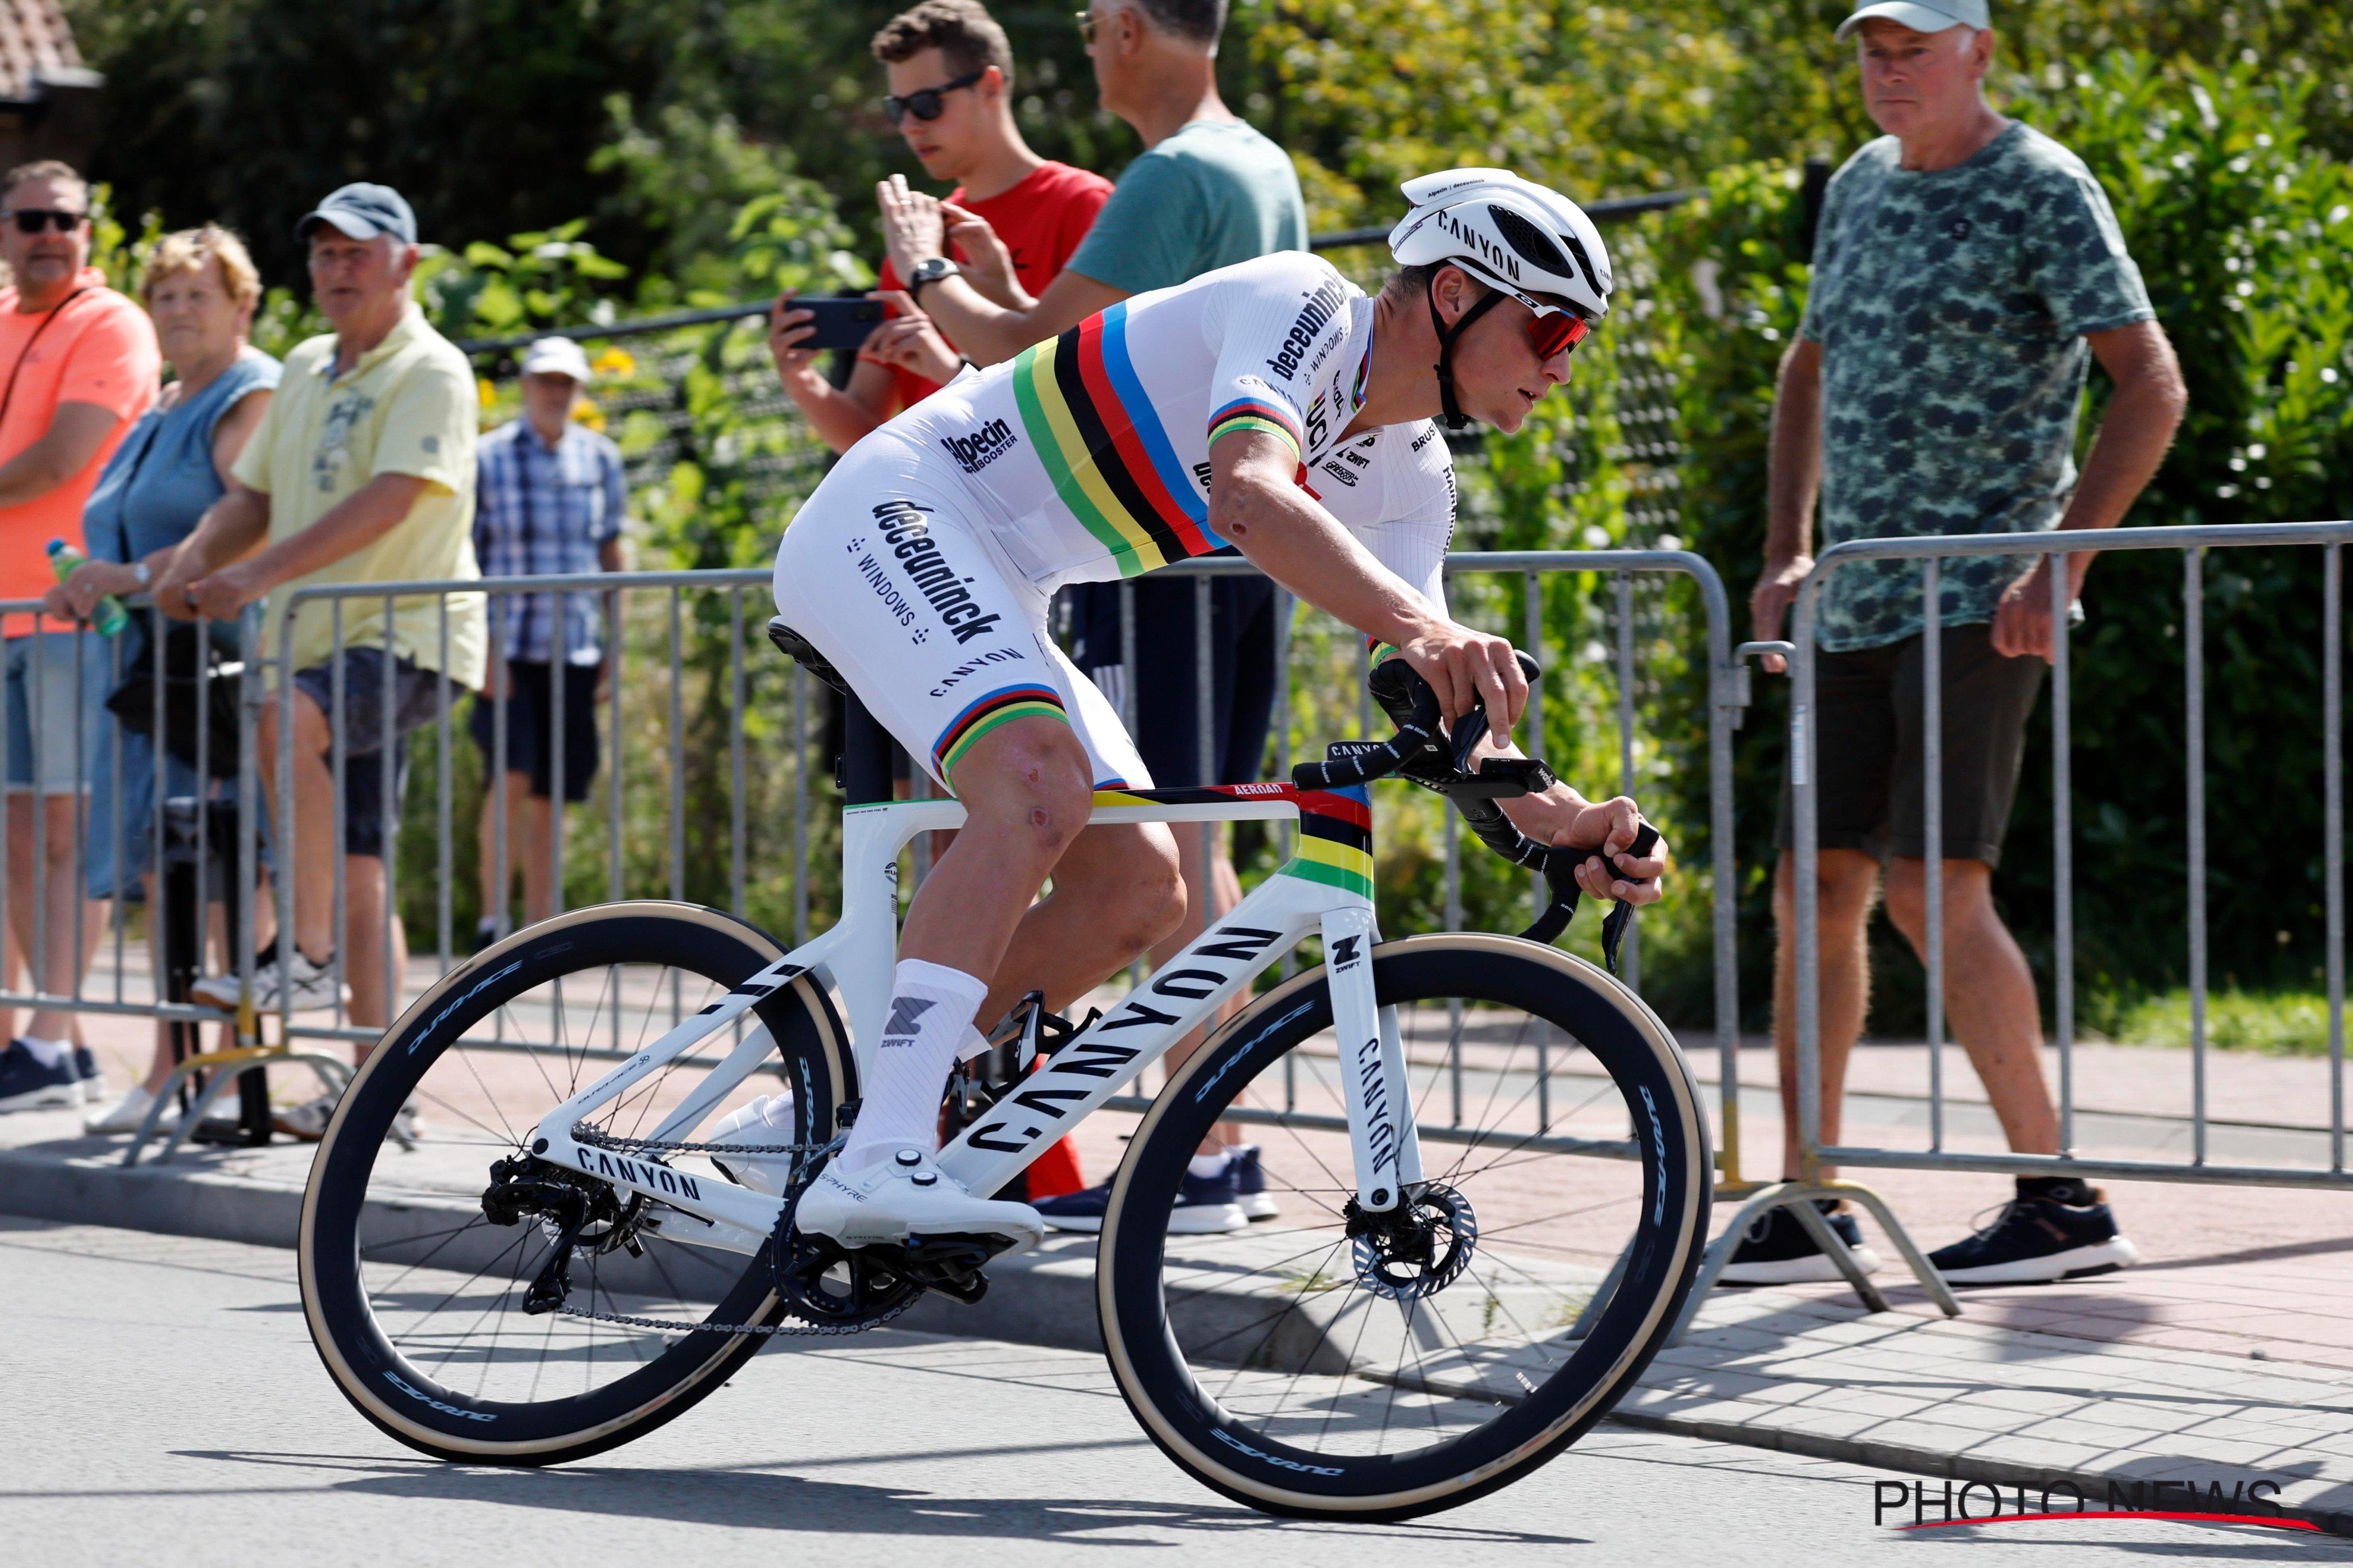
<path id="1" fill-rule="evenodd" d="M 572 421 L 588 388 L 588 355 L 572 339 L 539 339 L 522 355 L 522 418 L 482 437 L 473 548 L 482 576 L 621 571 L 628 489 L 621 449 Z M 595 705 L 612 691 L 607 595 L 492 595 L 489 682 L 473 705 L 485 773 L 499 769 L 504 691 L 506 773 L 482 797 L 482 922 L 475 950 L 506 929 L 513 867 L 529 919 L 553 910 L 551 816 L 558 726 L 565 799 L 588 799 L 598 769 Z M 558 686 L 558 682 L 562 682 Z M 499 853 L 499 818 L 506 853 Z"/>

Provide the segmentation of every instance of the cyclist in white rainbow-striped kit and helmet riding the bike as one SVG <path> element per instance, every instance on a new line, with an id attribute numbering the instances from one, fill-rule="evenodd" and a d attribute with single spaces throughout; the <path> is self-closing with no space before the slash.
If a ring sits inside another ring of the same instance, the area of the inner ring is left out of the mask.
<path id="1" fill-rule="evenodd" d="M 1609 256 L 1574 202 L 1508 169 L 1405 197 L 1379 296 L 1306 252 L 1139 294 L 878 428 L 786 531 L 779 614 L 967 811 L 908 907 L 864 1105 L 802 1232 L 1035 1244 L 1035 1208 L 932 1164 L 948 1067 L 976 1018 L 1028 990 L 1068 1006 L 1184 917 L 1167 825 L 1087 825 L 1094 790 L 1151 778 L 1047 637 L 1054 588 L 1233 543 L 1405 658 L 1449 719 L 1485 698 L 1482 748 L 1508 755 L 1527 682 L 1504 637 L 1447 618 L 1454 470 L 1431 416 L 1518 430 L 1609 308 Z M 1631 799 L 1553 785 L 1506 811 L 1591 846 L 1588 893 L 1659 898 L 1666 849 L 1624 853 Z"/>

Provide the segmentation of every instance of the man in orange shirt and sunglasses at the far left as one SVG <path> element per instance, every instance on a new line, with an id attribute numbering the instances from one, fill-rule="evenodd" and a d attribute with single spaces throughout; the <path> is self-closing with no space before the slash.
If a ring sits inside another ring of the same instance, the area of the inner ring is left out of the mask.
<path id="1" fill-rule="evenodd" d="M 155 327 L 89 266 L 89 186 L 47 160 L 0 179 L 0 599 L 40 599 L 56 581 L 47 545 L 82 548 L 82 503 L 122 433 L 155 397 Z M 49 623 L 54 625 L 54 623 Z M 75 804 L 82 726 L 106 658 L 92 632 L 35 630 L 0 616 L 7 701 L 7 983 L 64 997 L 99 945 L 106 905 L 82 898 Z M 33 799 L 40 797 L 35 809 Z M 14 1034 L 14 1016 L 0 1018 Z M 96 1063 L 73 1046 L 73 1016 L 33 1013 L 0 1051 L 0 1112 L 75 1105 Z"/>

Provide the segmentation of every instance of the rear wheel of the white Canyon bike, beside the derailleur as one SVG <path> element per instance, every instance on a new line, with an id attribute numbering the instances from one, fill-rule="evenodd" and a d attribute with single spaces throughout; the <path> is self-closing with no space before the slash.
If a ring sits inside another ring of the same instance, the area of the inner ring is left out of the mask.
<path id="1" fill-rule="evenodd" d="M 393 1025 L 336 1107 L 301 1215 L 311 1338 L 367 1420 L 447 1460 L 574 1460 L 687 1410 L 762 1345 L 607 1319 L 776 1324 L 786 1309 L 765 1241 L 715 1246 L 685 1211 L 536 1166 L 598 1215 L 572 1253 L 567 1305 L 605 1316 L 525 1312 L 558 1225 L 499 1204 L 485 1213 L 485 1187 L 492 1166 L 527 1161 L 546 1112 L 779 957 L 762 931 L 715 910 L 602 905 L 482 952 Z M 600 1107 L 595 1128 L 649 1135 L 758 1025 L 774 1039 L 762 1072 L 701 1126 L 758 1093 L 791 1093 L 779 1140 L 831 1135 L 849 1048 L 809 976 Z M 701 1154 L 659 1159 L 729 1180 Z"/>

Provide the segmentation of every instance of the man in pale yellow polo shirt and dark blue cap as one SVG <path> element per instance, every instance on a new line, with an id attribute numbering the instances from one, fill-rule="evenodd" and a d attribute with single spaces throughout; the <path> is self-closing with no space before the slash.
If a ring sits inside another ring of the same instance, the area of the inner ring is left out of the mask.
<path id="1" fill-rule="evenodd" d="M 292 940 L 261 954 L 254 1001 L 275 1009 L 332 1009 L 334 931 L 334 684 L 344 684 L 344 943 L 351 1023 L 384 1027 L 407 961 L 400 922 L 386 931 L 386 825 L 400 816 L 402 736 L 435 712 L 447 677 L 482 684 L 487 616 L 482 595 L 449 597 L 447 644 L 438 597 L 344 599 L 341 661 L 334 609 L 308 602 L 282 628 L 287 597 L 313 583 L 398 583 L 475 578 L 473 557 L 473 369 L 433 331 L 409 299 L 416 219 L 388 186 L 344 186 L 296 226 L 311 247 L 311 284 L 332 334 L 287 355 L 268 414 L 238 458 L 221 496 L 172 567 L 155 602 L 174 616 L 226 621 L 268 595 L 264 651 L 275 663 L 280 635 L 294 668 L 294 820 L 275 823 L 280 875 L 294 884 Z M 261 545 L 254 550 L 254 545 Z M 261 719 L 261 769 L 275 785 L 282 703 Z M 393 738 L 393 792 L 384 795 L 384 738 Z M 233 1009 L 235 976 L 200 980 L 198 1001 Z M 294 1107 L 280 1126 L 320 1135 L 332 1098 Z"/>

